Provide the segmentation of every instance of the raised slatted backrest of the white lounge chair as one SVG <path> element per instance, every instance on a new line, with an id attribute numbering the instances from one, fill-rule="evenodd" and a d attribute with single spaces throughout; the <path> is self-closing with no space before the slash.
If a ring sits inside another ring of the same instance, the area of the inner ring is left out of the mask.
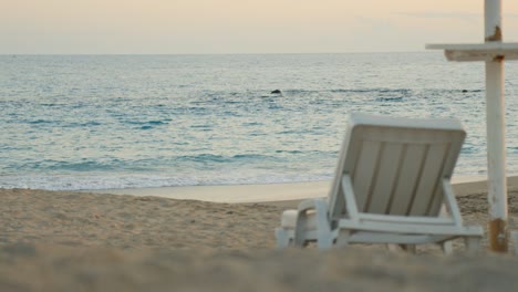
<path id="1" fill-rule="evenodd" d="M 465 136 L 454 118 L 352 114 L 329 194 L 330 217 L 346 216 L 344 175 L 358 212 L 438 216 L 442 180 L 452 177 Z"/>

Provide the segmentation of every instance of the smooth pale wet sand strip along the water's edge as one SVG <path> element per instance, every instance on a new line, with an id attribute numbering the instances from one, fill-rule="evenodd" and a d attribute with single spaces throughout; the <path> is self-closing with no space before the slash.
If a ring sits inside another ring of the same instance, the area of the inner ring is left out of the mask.
<path id="1" fill-rule="evenodd" d="M 453 179 L 457 196 L 487 190 L 486 176 L 455 176 Z M 508 176 L 508 185 L 518 182 L 517 175 Z M 82 190 L 82 192 L 153 196 L 178 200 L 201 200 L 209 202 L 251 204 L 251 202 L 290 202 L 308 198 L 328 196 L 331 180 L 268 184 L 268 185 L 217 185 L 217 186 L 178 186 L 156 188 L 125 188 Z"/>

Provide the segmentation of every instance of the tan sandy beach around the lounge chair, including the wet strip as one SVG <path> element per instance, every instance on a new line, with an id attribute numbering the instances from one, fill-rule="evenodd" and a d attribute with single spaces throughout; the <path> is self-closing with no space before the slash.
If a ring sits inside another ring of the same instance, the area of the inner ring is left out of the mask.
<path id="1" fill-rule="evenodd" d="M 508 182 L 515 228 L 518 177 Z M 486 182 L 457 182 L 454 189 L 465 221 L 485 227 Z M 266 190 L 270 195 L 261 197 Z M 462 242 L 448 257 L 432 246 L 419 247 L 416 255 L 380 246 L 276 250 L 273 229 L 282 210 L 301 198 L 325 196 L 325 182 L 176 190 L 240 198 L 231 202 L 145 192 L 0 190 L 0 291 L 518 289 L 517 255 L 467 255 Z M 286 196 L 265 200 L 278 194 Z"/>

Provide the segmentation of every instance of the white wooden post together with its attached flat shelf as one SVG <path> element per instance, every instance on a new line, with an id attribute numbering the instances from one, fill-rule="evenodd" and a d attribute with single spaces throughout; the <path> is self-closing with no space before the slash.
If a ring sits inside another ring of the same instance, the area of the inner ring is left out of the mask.
<path id="1" fill-rule="evenodd" d="M 485 0 L 485 42 L 427 44 L 449 61 L 486 62 L 486 119 L 489 202 L 489 246 L 507 251 L 507 177 L 505 142 L 504 60 L 518 60 L 518 43 L 503 42 L 501 1 Z M 455 79 L 455 76 L 452 76 Z"/>

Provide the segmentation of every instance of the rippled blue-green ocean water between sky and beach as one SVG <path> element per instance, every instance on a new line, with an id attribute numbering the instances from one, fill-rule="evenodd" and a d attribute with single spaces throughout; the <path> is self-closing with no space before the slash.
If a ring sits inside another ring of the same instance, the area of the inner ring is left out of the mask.
<path id="1" fill-rule="evenodd" d="M 506 76 L 518 173 L 515 63 Z M 456 174 L 483 175 L 484 80 L 483 63 L 439 52 L 0 55 L 0 188 L 330 179 L 352 112 L 457 117 L 468 137 Z"/>

